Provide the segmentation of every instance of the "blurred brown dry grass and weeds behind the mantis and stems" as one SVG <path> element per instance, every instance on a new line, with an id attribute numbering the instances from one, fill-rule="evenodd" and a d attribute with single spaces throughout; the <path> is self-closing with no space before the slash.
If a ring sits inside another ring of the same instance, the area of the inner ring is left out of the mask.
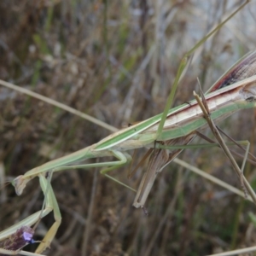
<path id="1" fill-rule="evenodd" d="M 240 3 L 2 0 L 0 79 L 122 128 L 162 112 L 183 55 Z M 255 13 L 252 1 L 197 50 L 179 84 L 176 106 L 193 98 L 197 78 L 207 90 L 255 49 Z M 7 180 L 110 134 L 3 86 L 0 109 L 0 173 Z M 253 109 L 220 126 L 236 140 L 249 140 L 255 154 Z M 134 166 L 144 153 L 135 152 Z M 188 149 L 180 158 L 240 188 L 220 149 Z M 137 188 L 145 166 L 131 179 L 129 167 L 112 175 Z M 47 255 L 206 255 L 255 244 L 253 204 L 177 164 L 157 177 L 147 201 L 148 216 L 132 207 L 131 190 L 96 171 L 54 174 L 62 223 Z M 246 174 L 255 188 L 255 167 L 247 164 Z M 0 230 L 38 211 L 44 200 L 37 179 L 20 197 L 10 185 L 0 196 Z M 42 240 L 53 222 L 52 214 L 42 219 L 35 239 Z"/>

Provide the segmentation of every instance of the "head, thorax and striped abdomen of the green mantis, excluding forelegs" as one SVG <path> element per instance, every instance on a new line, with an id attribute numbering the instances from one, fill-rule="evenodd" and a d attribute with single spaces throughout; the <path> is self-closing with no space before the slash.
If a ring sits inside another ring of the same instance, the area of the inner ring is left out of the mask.
<path id="1" fill-rule="evenodd" d="M 250 55 L 253 57 L 253 60 L 255 59 L 255 55 L 255 52 Z M 248 70 L 247 75 L 249 76 L 248 79 L 224 87 L 221 90 L 213 91 L 207 95 L 207 103 L 209 110 L 212 113 L 211 116 L 213 120 L 218 121 L 218 119 L 224 119 L 230 114 L 243 108 L 255 107 L 255 77 L 250 77 L 252 73 L 248 72 Z M 90 147 L 61 157 L 58 160 L 49 161 L 43 166 L 38 166 L 31 171 L 26 172 L 24 175 L 16 177 L 14 185 L 17 195 L 22 193 L 28 181 L 43 172 L 59 172 L 71 168 L 91 168 L 98 166 L 112 166 L 110 169 L 113 169 L 113 167 L 117 168 L 118 166 L 125 165 L 131 160 L 130 155 L 125 152 L 127 150 L 142 147 L 154 148 L 154 141 L 156 139 L 157 141 L 165 142 L 185 137 L 185 140 L 188 141 L 185 144 L 187 144 L 191 141 L 192 137 L 194 137 L 192 136 L 193 133 L 207 124 L 207 121 L 203 118 L 201 108 L 195 101 L 189 102 L 189 104 L 185 103 L 177 108 L 172 108 L 167 114 L 164 129 L 161 132 L 160 137 L 155 137 L 161 117 L 162 113 L 140 122 L 137 125 L 131 125 L 131 127 L 117 131 Z M 187 137 L 191 138 L 188 139 Z M 87 165 L 77 164 L 79 161 L 104 156 L 114 156 L 118 161 Z M 170 160 L 168 163 L 169 162 Z M 108 171 L 109 168 L 104 170 L 103 173 Z M 143 207 L 143 204 L 135 203 L 135 206 Z"/>

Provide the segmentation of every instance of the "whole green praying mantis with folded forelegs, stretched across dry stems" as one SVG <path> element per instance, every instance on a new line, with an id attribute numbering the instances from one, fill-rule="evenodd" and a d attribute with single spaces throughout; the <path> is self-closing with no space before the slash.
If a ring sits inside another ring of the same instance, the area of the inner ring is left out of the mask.
<path id="1" fill-rule="evenodd" d="M 248 55 L 242 61 L 250 60 L 253 63 L 254 57 L 255 53 Z M 182 66 L 180 68 L 179 75 L 177 75 L 177 82 L 182 73 L 183 64 L 184 63 L 182 63 Z M 210 106 L 213 120 L 222 119 L 225 116 L 230 115 L 231 113 L 234 113 L 241 108 L 255 107 L 255 102 L 253 101 L 253 96 L 255 96 L 255 77 L 252 77 L 253 74 L 254 73 L 247 73 L 247 76 L 245 78 L 241 78 L 241 82 L 229 85 L 228 87 L 224 87 L 223 89 L 217 90 L 214 87 L 215 85 L 213 85 L 212 91 L 209 90 L 210 93 L 207 95 L 207 102 Z M 166 104 L 166 109 L 168 110 L 169 108 L 170 107 L 168 106 L 168 104 Z M 207 125 L 207 122 L 203 118 L 203 114 L 201 113 L 201 110 L 197 103 L 193 101 L 189 102 L 189 104 L 183 104 L 182 106 L 179 106 L 177 108 L 172 108 L 168 112 L 164 112 L 163 114 L 159 114 L 157 116 L 154 116 L 153 118 L 140 122 L 137 125 L 131 125 L 131 127 L 118 131 L 113 135 L 106 137 L 99 143 L 96 143 L 88 148 L 81 149 L 78 152 L 69 154 L 65 157 L 62 157 L 61 159 L 50 161 L 43 166 L 38 166 L 31 171 L 26 172 L 23 176 L 15 178 L 14 185 L 16 193 L 18 195 L 21 195 L 23 189 L 25 189 L 26 187 L 27 182 L 32 180 L 33 177 L 39 177 L 41 181 L 44 179 L 44 173 L 49 171 L 60 172 L 71 168 L 84 169 L 92 167 L 106 167 L 106 169 L 102 170 L 102 174 L 110 177 L 107 174 L 108 171 L 125 165 L 129 161 L 131 161 L 131 156 L 130 154 L 127 154 L 125 152 L 126 150 L 142 147 L 157 148 L 160 147 L 160 144 L 154 143 L 155 141 L 169 142 L 170 140 L 179 137 L 188 137 L 185 142 L 186 144 L 192 140 L 192 137 L 194 137 L 193 132 L 196 129 L 200 129 L 204 125 Z M 105 163 L 76 165 L 76 163 L 79 161 L 103 156 L 114 156 L 118 160 Z M 154 183 L 156 171 L 159 172 L 160 169 L 162 169 L 168 163 L 168 160 L 164 164 L 161 162 L 160 166 L 157 168 L 158 170 L 154 170 L 153 168 L 151 168 L 154 173 L 149 175 L 149 179 L 152 178 L 152 180 L 148 180 L 147 177 L 143 178 L 143 182 L 141 183 L 142 186 L 138 189 L 137 197 L 134 201 L 135 207 L 143 207 L 144 202 L 148 197 L 151 186 Z M 68 166 L 71 164 L 73 164 L 73 166 Z M 41 187 L 44 190 L 44 185 L 41 184 Z M 50 196 L 53 195 L 53 193 L 49 194 Z M 48 210 L 51 208 L 54 209 L 56 222 L 52 229 L 49 230 L 48 235 L 44 239 L 44 241 L 49 242 L 42 243 L 42 247 L 39 247 L 37 250 L 38 253 L 42 252 L 45 247 L 49 246 L 50 241 L 55 236 L 55 232 L 61 223 L 61 214 L 59 208 L 57 207 L 57 203 L 53 199 L 50 200 L 50 196 L 49 200 L 47 200 L 49 204 L 46 208 Z M 45 210 L 45 215 L 49 212 L 48 210 Z M 31 225 L 37 219 L 38 215 L 31 216 L 25 222 L 19 223 L 19 225 Z M 4 231 L 5 233 L 0 233 L 0 236 L 9 236 L 15 230 L 17 230 L 17 226 L 9 229 L 8 235 L 6 235 L 7 232 Z"/>

